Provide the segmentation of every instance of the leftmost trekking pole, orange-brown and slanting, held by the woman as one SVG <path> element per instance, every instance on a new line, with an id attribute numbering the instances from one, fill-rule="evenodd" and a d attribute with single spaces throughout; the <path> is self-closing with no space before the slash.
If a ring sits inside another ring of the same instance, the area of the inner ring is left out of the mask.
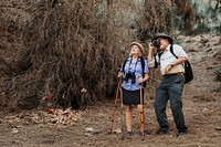
<path id="1" fill-rule="evenodd" d="M 113 109 L 113 113 L 112 113 L 112 123 L 110 123 L 109 134 L 112 134 L 113 125 L 114 125 L 114 120 L 115 120 L 115 112 L 116 112 L 116 108 L 117 108 L 117 101 L 118 101 L 118 95 L 119 95 L 119 92 L 120 92 L 120 83 L 122 83 L 122 77 L 118 78 L 117 92 L 116 92 L 115 103 L 114 103 L 114 109 Z"/>

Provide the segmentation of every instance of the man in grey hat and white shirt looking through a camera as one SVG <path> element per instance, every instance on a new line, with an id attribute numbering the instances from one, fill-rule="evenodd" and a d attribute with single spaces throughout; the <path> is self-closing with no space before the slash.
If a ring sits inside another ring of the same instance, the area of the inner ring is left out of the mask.
<path id="1" fill-rule="evenodd" d="M 157 54 L 154 57 L 154 51 Z M 175 56 L 171 51 L 173 51 Z M 157 34 L 149 43 L 148 62 L 160 64 L 162 80 L 157 88 L 155 98 L 155 112 L 160 128 L 156 132 L 158 135 L 168 133 L 169 124 L 166 115 L 167 102 L 170 102 L 170 108 L 178 129 L 178 136 L 187 134 L 187 126 L 182 113 L 181 93 L 185 85 L 185 69 L 182 63 L 187 61 L 187 54 L 180 45 L 173 44 L 172 38 L 165 33 Z"/>

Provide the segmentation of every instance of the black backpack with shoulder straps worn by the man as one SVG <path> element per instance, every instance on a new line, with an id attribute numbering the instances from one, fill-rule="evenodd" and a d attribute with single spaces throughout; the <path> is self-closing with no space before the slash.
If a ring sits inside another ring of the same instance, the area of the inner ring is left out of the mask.
<path id="1" fill-rule="evenodd" d="M 177 55 L 173 53 L 172 44 L 170 46 L 170 52 L 176 59 L 178 59 Z M 160 59 L 161 52 L 158 54 L 158 56 Z M 155 59 L 155 67 L 157 67 L 156 59 Z M 193 72 L 192 72 L 192 67 L 189 61 L 185 62 L 183 67 L 185 67 L 185 80 L 186 80 L 185 84 L 187 84 L 193 80 Z"/>

